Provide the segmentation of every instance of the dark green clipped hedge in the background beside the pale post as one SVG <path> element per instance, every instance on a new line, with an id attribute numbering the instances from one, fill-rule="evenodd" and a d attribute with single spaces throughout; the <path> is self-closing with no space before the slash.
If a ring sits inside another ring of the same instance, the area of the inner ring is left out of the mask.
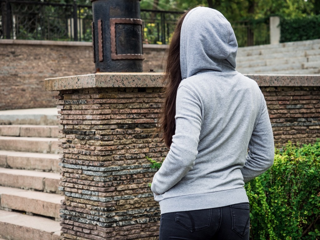
<path id="1" fill-rule="evenodd" d="M 280 42 L 304 41 L 320 38 L 320 15 L 303 18 L 281 18 Z"/>

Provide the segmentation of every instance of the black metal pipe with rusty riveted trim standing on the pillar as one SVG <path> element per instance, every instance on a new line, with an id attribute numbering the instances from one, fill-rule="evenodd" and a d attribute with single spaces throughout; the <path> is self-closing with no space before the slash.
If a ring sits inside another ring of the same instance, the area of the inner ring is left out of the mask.
<path id="1" fill-rule="evenodd" d="M 96 72 L 142 72 L 140 0 L 91 0 Z"/>

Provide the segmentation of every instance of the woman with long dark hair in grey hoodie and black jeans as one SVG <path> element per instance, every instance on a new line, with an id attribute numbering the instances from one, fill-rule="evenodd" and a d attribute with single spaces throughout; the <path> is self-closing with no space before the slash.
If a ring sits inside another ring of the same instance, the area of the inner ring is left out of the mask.
<path id="1" fill-rule="evenodd" d="M 160 240 L 249 239 L 244 183 L 273 164 L 274 142 L 258 84 L 235 69 L 237 48 L 214 9 L 196 7 L 177 23 L 159 121 L 170 151 L 151 185 Z"/>

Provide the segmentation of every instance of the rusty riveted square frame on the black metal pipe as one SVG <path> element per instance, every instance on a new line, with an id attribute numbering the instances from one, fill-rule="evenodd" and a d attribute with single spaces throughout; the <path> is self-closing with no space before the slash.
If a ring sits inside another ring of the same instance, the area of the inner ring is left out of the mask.
<path id="1" fill-rule="evenodd" d="M 111 18 L 110 33 L 111 33 L 111 59 L 144 59 L 143 54 L 117 54 L 116 52 L 116 23 L 137 24 L 141 26 L 142 35 L 142 20 L 132 18 Z M 142 37 L 142 36 L 141 36 Z"/>

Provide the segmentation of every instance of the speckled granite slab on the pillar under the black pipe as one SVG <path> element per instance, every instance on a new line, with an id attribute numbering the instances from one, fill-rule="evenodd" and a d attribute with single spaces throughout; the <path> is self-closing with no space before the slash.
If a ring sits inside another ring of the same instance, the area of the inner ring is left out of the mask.
<path id="1" fill-rule="evenodd" d="M 46 91 L 108 87 L 163 87 L 163 73 L 95 73 L 47 78 Z"/>

